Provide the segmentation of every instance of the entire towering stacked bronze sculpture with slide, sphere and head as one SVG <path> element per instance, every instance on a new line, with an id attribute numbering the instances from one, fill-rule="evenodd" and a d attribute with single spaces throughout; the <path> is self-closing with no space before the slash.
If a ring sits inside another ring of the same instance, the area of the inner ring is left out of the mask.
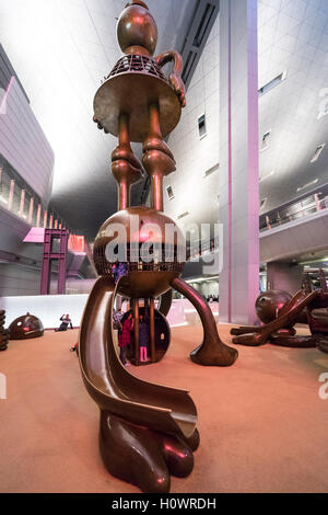
<path id="1" fill-rule="evenodd" d="M 113 307 L 117 294 L 133 305 L 138 347 L 139 299 L 149 307 L 151 352 L 154 355 L 154 299 L 172 288 L 183 293 L 197 308 L 203 324 L 202 344 L 191 359 L 207 366 L 230 366 L 237 352 L 224 345 L 209 306 L 184 281 L 184 261 L 178 258 L 180 232 L 163 211 L 163 178 L 175 170 L 171 150 L 163 140 L 177 125 L 185 105 L 180 78 L 181 58 L 176 52 L 152 57 L 156 24 L 142 1 L 131 2 L 117 24 L 118 42 L 125 54 L 96 93 L 94 121 L 105 133 L 118 136 L 113 152 L 113 174 L 118 183 L 119 211 L 99 229 L 94 261 L 101 277 L 87 301 L 80 331 L 80 364 L 84 384 L 101 409 L 99 446 L 108 471 L 145 492 L 168 492 L 171 474 L 188 476 L 192 450 L 199 444 L 196 407 L 186 391 L 152 385 L 130 375 L 117 357 L 113 342 Z M 167 80 L 162 67 L 173 60 Z M 151 207 L 130 207 L 130 187 L 141 178 L 142 167 L 130 141 L 143 142 L 142 162 L 151 179 Z M 139 217 L 131 229 L 131 219 Z M 175 227 L 172 259 L 144 263 L 133 260 L 140 249 L 142 228 L 156 224 L 163 231 L 149 232 L 155 248 L 166 245 L 166 225 Z M 126 229 L 120 241 L 110 230 Z M 108 236 L 109 234 L 109 236 Z M 137 234 L 137 237 L 136 237 Z M 125 263 L 110 262 L 107 247 L 116 238 L 125 245 Z M 124 273 L 117 276 L 118 265 Z M 115 273 L 114 273 L 115 271 Z M 134 356 L 138 364 L 138 354 Z"/>

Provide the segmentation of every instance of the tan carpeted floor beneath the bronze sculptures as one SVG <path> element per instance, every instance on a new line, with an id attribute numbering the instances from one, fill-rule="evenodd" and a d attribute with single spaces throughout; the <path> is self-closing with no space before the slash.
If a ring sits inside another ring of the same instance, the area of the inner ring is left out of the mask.
<path id="1" fill-rule="evenodd" d="M 229 328 L 220 333 L 230 341 Z M 161 364 L 139 377 L 190 389 L 201 445 L 176 492 L 327 492 L 328 400 L 318 396 L 328 356 L 316 350 L 239 347 L 232 368 L 203 368 L 188 354 L 202 330 L 176 328 Z M 1 492 L 139 492 L 112 478 L 97 447 L 98 411 L 69 352 L 78 331 L 11 342 L 0 353 Z"/>

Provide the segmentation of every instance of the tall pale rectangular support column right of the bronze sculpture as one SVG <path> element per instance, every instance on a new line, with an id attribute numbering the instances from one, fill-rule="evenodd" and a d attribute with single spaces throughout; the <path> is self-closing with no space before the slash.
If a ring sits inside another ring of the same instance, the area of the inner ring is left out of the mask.
<path id="1" fill-rule="evenodd" d="M 257 1 L 220 5 L 220 321 L 251 324 L 259 294 Z"/>

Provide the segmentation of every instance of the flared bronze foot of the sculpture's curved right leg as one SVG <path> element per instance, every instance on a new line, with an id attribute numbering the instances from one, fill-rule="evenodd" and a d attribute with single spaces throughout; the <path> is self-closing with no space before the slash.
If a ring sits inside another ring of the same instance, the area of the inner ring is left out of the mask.
<path id="1" fill-rule="evenodd" d="M 211 336 L 206 336 L 206 341 L 192 351 L 190 354 L 191 362 L 208 367 L 232 366 L 238 357 L 238 351 L 221 342 L 218 334 L 214 341 L 208 341 L 210 337 Z"/>

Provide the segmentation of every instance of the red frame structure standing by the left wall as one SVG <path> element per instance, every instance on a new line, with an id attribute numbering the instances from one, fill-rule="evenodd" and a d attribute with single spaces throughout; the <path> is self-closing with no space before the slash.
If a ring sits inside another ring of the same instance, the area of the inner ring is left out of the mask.
<path id="1" fill-rule="evenodd" d="M 69 231 L 67 229 L 46 229 L 44 241 L 40 295 L 50 294 L 51 272 L 58 273 L 58 295 L 65 295 Z M 54 270 L 52 265 L 57 263 Z"/>

